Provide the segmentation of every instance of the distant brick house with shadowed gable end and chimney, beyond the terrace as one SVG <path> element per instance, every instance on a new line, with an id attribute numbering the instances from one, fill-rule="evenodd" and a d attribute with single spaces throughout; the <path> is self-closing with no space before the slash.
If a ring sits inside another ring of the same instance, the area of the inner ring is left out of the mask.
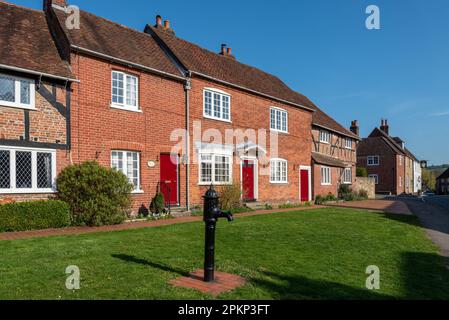
<path id="1" fill-rule="evenodd" d="M 416 194 L 422 190 L 421 163 L 399 137 L 391 137 L 387 120 L 363 139 L 357 166 L 367 168 L 376 180 L 376 193 Z"/>

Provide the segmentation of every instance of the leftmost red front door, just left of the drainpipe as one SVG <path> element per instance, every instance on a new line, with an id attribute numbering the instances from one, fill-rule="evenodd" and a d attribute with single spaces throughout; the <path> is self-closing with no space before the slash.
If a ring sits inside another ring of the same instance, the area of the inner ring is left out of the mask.
<path id="1" fill-rule="evenodd" d="M 177 155 L 161 154 L 160 186 L 166 205 L 179 205 L 178 166 Z"/>

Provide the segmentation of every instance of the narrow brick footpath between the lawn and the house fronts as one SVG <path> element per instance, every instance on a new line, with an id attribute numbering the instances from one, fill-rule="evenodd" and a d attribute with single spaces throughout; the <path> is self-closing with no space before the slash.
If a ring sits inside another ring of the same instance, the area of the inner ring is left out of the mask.
<path id="1" fill-rule="evenodd" d="M 294 212 L 294 211 L 304 211 L 313 209 L 322 209 L 324 206 L 312 206 L 312 207 L 301 207 L 292 209 L 273 209 L 273 210 L 260 210 L 248 213 L 241 213 L 235 215 L 238 219 L 240 217 L 252 217 L 258 215 L 267 215 L 274 213 L 283 212 Z M 138 221 L 138 222 L 128 222 L 124 224 L 119 224 L 115 226 L 104 226 L 104 227 L 72 227 L 64 229 L 45 229 L 36 231 L 22 231 L 22 232 L 5 232 L 0 233 L 0 241 L 4 240 L 18 240 L 18 239 L 28 239 L 28 238 L 45 238 L 52 236 L 67 236 L 67 235 L 78 235 L 78 234 L 88 234 L 88 233 L 98 233 L 98 232 L 111 232 L 111 231 L 123 231 L 123 230 L 135 230 L 143 228 L 154 228 L 160 226 L 167 226 L 180 223 L 188 222 L 198 222 L 202 221 L 203 217 L 181 217 L 168 220 L 158 220 L 158 221 Z"/>

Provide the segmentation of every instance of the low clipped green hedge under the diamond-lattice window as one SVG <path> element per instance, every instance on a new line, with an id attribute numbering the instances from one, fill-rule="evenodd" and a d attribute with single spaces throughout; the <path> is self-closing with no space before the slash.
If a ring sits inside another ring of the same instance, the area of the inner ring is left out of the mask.
<path id="1" fill-rule="evenodd" d="M 70 226 L 70 208 L 63 201 L 34 201 L 0 205 L 0 232 Z"/>

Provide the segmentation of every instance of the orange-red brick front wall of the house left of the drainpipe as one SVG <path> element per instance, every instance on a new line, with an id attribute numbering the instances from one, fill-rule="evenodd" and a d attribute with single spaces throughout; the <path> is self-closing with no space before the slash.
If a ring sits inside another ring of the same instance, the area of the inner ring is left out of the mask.
<path id="1" fill-rule="evenodd" d="M 134 209 L 149 206 L 160 180 L 159 158 L 170 153 L 172 130 L 185 127 L 183 84 L 139 70 L 125 68 L 81 54 L 72 55 L 72 66 L 81 81 L 72 95 L 72 157 L 75 163 L 97 160 L 111 166 L 111 150 L 140 152 L 141 188 L 133 195 Z M 113 109 L 112 70 L 139 78 L 142 112 Z M 147 164 L 154 161 L 156 166 Z M 185 205 L 185 166 L 180 166 L 180 201 Z"/>

